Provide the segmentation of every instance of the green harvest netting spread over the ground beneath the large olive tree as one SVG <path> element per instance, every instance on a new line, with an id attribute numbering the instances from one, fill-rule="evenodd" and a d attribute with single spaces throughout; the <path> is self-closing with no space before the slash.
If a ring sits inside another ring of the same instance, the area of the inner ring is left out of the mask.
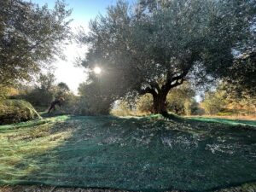
<path id="1" fill-rule="evenodd" d="M 254 183 L 256 129 L 249 125 L 160 116 L 3 125 L 0 185 L 206 191 Z"/>

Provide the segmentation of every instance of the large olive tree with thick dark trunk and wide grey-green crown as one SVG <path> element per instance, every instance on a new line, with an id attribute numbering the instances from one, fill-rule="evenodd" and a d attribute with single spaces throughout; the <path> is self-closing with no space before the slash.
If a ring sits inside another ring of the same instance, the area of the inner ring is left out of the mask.
<path id="1" fill-rule="evenodd" d="M 254 1 L 143 0 L 131 9 L 119 1 L 79 36 L 89 45 L 82 65 L 102 67 L 115 97 L 148 93 L 154 113 L 166 113 L 166 96 L 184 81 L 229 75 L 232 51 L 252 41 L 255 13 Z"/>

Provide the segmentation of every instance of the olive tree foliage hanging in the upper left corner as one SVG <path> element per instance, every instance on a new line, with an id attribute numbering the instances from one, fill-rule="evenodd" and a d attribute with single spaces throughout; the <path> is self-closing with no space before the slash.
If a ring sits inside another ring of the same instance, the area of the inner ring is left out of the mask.
<path id="1" fill-rule="evenodd" d="M 0 84 L 7 86 L 31 79 L 61 55 L 61 44 L 71 34 L 71 11 L 61 1 L 49 9 L 25 0 L 1 0 L 0 8 Z"/>

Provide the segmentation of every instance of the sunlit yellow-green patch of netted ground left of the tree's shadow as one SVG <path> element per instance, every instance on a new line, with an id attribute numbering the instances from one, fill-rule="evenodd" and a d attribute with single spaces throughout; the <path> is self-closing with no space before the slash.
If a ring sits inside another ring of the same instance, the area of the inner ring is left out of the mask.
<path id="1" fill-rule="evenodd" d="M 53 131 L 56 122 L 64 122 L 66 119 L 67 116 L 62 116 L 0 126 L 0 175 L 5 177 L 0 183 L 26 177 L 37 171 L 40 168 L 38 157 L 71 137 L 71 129 Z"/>

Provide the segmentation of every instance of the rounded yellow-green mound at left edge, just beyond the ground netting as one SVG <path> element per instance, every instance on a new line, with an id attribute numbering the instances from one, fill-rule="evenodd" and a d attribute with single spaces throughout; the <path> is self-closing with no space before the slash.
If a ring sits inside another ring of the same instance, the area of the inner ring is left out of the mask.
<path id="1" fill-rule="evenodd" d="M 38 112 L 29 102 L 22 100 L 4 100 L 0 103 L 0 125 L 40 118 Z"/>

